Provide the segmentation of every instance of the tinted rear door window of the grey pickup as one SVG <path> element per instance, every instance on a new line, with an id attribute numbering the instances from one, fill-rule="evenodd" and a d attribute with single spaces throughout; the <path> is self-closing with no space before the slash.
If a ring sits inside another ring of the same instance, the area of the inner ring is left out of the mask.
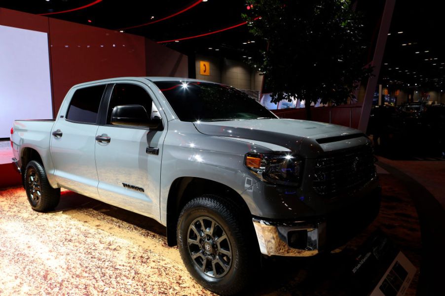
<path id="1" fill-rule="evenodd" d="M 105 87 L 106 85 L 98 85 L 76 90 L 68 107 L 67 119 L 82 123 L 96 123 Z"/>

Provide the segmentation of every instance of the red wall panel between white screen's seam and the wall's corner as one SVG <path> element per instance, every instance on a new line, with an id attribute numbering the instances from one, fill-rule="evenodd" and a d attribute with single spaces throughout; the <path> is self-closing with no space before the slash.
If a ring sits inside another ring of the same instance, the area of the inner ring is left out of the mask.
<path id="1" fill-rule="evenodd" d="M 49 28 L 55 110 L 74 84 L 146 75 L 142 36 L 51 18 Z"/>

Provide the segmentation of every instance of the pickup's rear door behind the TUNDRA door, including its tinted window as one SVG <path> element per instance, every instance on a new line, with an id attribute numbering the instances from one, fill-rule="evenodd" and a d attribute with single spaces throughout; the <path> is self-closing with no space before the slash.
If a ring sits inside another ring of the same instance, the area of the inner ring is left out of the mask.
<path id="1" fill-rule="evenodd" d="M 93 198 L 99 197 L 94 150 L 105 88 L 101 84 L 75 89 L 67 111 L 54 124 L 50 142 L 57 183 Z"/>

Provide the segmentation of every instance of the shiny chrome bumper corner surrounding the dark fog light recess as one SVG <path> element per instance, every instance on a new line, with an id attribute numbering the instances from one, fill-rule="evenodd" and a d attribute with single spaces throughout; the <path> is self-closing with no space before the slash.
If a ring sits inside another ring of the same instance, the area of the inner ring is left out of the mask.
<path id="1" fill-rule="evenodd" d="M 309 257 L 319 253 L 324 244 L 326 223 L 311 224 L 298 221 L 291 224 L 275 224 L 258 218 L 252 219 L 257 233 L 260 251 L 267 256 Z M 307 244 L 304 249 L 292 248 L 286 239 L 291 230 L 306 230 Z"/>

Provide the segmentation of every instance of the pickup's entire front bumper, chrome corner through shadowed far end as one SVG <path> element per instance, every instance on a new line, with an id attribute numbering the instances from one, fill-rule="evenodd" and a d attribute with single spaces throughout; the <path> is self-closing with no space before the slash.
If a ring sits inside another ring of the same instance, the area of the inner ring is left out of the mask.
<path id="1" fill-rule="evenodd" d="M 368 227 L 380 209 L 381 189 L 321 217 L 296 222 L 253 218 L 260 251 L 267 256 L 308 257 L 332 251 Z"/>

